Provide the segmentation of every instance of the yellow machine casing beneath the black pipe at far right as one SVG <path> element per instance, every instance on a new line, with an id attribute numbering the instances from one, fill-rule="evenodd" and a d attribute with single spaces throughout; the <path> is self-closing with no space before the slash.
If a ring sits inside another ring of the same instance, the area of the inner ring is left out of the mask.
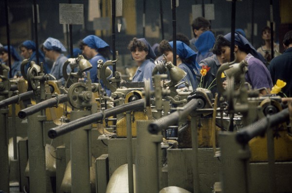
<path id="1" fill-rule="evenodd" d="M 274 137 L 274 155 L 276 161 L 292 160 L 292 136 L 287 130 L 278 131 L 279 137 Z M 267 137 L 256 137 L 249 142 L 251 150 L 250 161 L 268 161 Z"/>

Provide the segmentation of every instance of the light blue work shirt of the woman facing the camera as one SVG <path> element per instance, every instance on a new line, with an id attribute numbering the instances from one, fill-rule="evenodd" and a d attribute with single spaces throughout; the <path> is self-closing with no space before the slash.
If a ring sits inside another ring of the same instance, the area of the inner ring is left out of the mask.
<path id="1" fill-rule="evenodd" d="M 146 80 L 150 80 L 150 88 L 153 90 L 152 84 L 152 71 L 155 67 L 152 59 L 146 59 L 140 67 L 138 67 L 136 73 L 133 76 L 132 82 L 142 82 L 146 84 Z"/>

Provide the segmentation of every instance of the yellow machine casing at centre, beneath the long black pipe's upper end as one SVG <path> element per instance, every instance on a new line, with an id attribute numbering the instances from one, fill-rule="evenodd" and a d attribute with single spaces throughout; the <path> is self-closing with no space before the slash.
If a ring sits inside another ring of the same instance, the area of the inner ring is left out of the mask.
<path id="1" fill-rule="evenodd" d="M 133 121 L 134 119 L 134 121 Z M 132 137 L 136 137 L 137 136 L 137 128 L 136 128 L 136 121 L 141 121 L 141 120 L 148 120 L 148 117 L 146 115 L 145 112 L 143 111 L 136 111 L 133 112 L 132 115 L 132 121 L 131 121 L 131 126 L 132 126 Z M 126 116 L 124 116 L 123 118 L 121 118 L 118 122 L 117 122 L 117 137 L 122 138 L 122 137 L 127 137 L 127 121 L 126 121 Z"/>

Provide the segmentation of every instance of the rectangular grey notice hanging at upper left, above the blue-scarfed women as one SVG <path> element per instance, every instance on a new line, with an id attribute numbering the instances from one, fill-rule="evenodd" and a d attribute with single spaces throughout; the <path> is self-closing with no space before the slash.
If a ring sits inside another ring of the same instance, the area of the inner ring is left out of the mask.
<path id="1" fill-rule="evenodd" d="M 83 4 L 59 3 L 60 24 L 83 24 Z"/>

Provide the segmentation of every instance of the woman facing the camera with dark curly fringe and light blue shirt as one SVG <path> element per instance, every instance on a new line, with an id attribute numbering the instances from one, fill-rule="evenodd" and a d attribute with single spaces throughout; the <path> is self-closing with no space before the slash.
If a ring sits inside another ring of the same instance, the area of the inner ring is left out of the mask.
<path id="1" fill-rule="evenodd" d="M 132 59 L 135 60 L 138 69 L 136 70 L 132 82 L 150 81 L 150 88 L 153 89 L 152 71 L 155 67 L 154 60 L 156 55 L 145 38 L 134 37 L 129 45 L 128 50 L 132 54 Z"/>

